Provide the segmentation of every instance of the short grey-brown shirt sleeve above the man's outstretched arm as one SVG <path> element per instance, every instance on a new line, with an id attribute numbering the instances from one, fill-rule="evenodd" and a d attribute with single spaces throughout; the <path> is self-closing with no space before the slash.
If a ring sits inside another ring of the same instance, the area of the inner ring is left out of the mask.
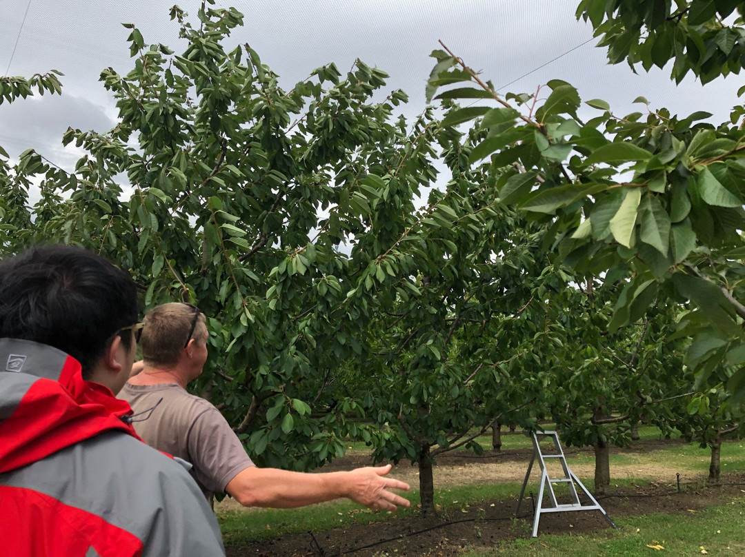
<path id="1" fill-rule="evenodd" d="M 254 466 L 238 436 L 220 411 L 207 403 L 188 433 L 194 475 L 210 491 L 225 491 L 238 472 Z"/>

